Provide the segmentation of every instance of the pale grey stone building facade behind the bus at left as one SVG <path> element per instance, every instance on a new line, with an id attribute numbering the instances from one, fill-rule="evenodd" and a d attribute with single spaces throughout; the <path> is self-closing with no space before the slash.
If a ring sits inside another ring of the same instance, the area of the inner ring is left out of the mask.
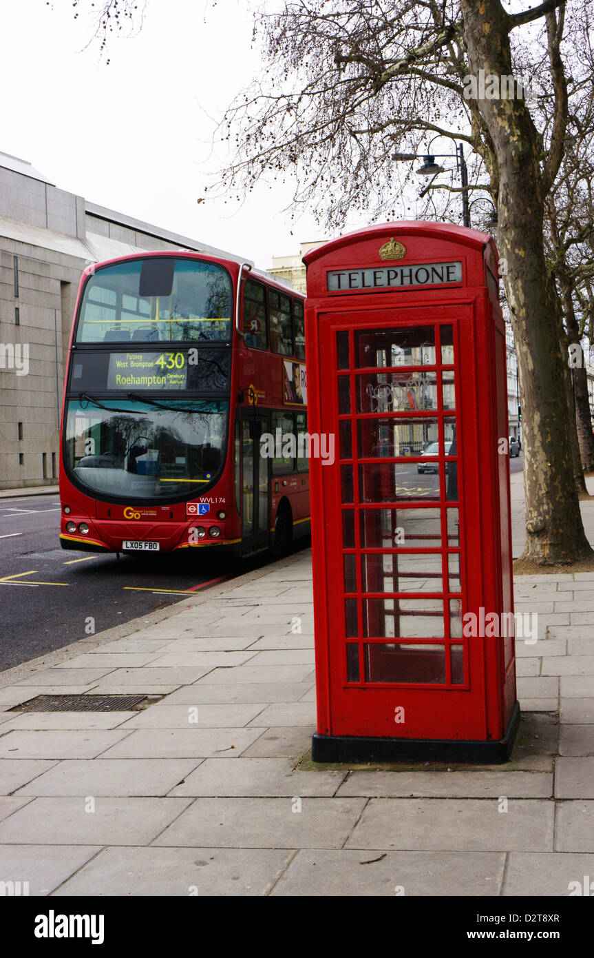
<path id="1" fill-rule="evenodd" d="M 250 262 L 59 190 L 0 152 L 0 489 L 57 481 L 80 274 L 93 262 L 158 249 Z"/>

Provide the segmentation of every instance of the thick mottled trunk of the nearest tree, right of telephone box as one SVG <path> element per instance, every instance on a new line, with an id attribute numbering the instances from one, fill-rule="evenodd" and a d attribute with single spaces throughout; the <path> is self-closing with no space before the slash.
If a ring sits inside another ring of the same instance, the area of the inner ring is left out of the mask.
<path id="1" fill-rule="evenodd" d="M 471 70 L 513 74 L 499 0 L 461 0 Z M 575 487 L 556 304 L 542 242 L 541 144 L 523 100 L 478 100 L 499 171 L 498 247 L 512 313 L 522 396 L 526 546 L 540 565 L 591 556 Z"/>

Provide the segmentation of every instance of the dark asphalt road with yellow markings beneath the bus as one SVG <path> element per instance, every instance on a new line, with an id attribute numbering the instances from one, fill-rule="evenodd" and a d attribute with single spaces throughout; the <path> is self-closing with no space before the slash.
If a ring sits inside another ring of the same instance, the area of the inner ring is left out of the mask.
<path id="1" fill-rule="evenodd" d="M 521 456 L 510 469 L 522 468 Z M 434 494 L 435 475 L 405 467 L 397 481 Z M 65 552 L 58 544 L 57 495 L 0 499 L 0 671 L 95 632 L 121 625 L 270 561 L 231 560 L 206 550 L 177 556 Z"/>

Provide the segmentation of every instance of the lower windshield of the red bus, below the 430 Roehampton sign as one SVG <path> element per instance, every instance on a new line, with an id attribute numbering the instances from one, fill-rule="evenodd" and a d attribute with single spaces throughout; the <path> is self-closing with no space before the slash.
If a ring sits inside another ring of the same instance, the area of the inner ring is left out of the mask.
<path id="1" fill-rule="evenodd" d="M 200 494 L 225 464 L 229 402 L 71 399 L 65 464 L 89 493 L 126 499 Z"/>

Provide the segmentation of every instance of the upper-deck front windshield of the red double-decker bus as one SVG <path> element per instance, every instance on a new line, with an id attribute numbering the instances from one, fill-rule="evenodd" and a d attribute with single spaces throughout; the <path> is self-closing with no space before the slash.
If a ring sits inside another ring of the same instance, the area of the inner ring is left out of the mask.
<path id="1" fill-rule="evenodd" d="M 214 262 L 147 257 L 87 281 L 77 343 L 231 339 L 231 276 Z"/>

